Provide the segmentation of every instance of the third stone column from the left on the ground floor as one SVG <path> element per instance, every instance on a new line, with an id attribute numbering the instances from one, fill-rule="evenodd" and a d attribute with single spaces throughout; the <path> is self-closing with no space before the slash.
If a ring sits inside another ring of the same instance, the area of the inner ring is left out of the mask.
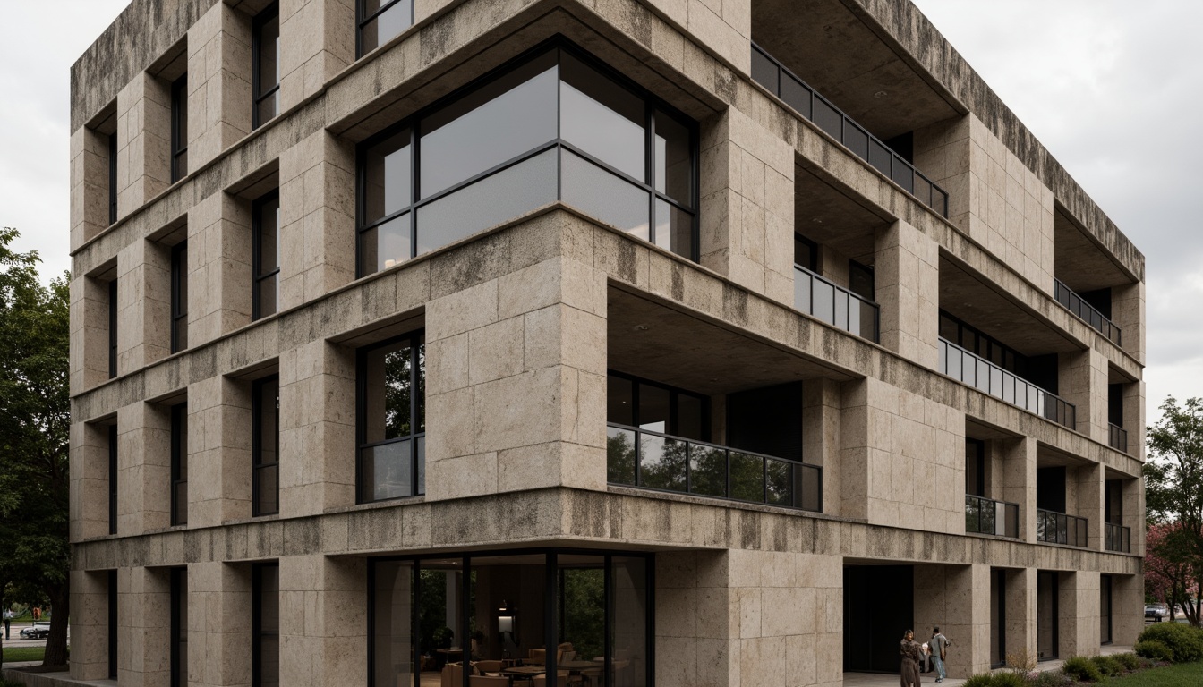
<path id="1" fill-rule="evenodd" d="M 249 564 L 212 562 L 188 567 L 188 683 L 191 687 L 249 687 Z"/>

